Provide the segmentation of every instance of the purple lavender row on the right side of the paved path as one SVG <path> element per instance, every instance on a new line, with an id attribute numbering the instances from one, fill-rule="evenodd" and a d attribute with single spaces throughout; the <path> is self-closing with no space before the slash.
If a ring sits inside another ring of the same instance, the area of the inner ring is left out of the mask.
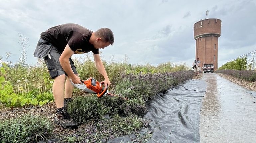
<path id="1" fill-rule="evenodd" d="M 256 81 L 256 71 L 252 70 L 217 70 L 215 72 L 232 75 L 248 81 Z"/>

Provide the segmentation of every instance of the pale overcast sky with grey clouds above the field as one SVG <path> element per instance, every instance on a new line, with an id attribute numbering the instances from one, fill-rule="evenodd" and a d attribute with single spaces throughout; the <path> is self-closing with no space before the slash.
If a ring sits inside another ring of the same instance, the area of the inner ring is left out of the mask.
<path id="1" fill-rule="evenodd" d="M 222 20 L 219 67 L 256 50 L 256 0 L 1 0 L 0 56 L 21 56 L 18 33 L 29 38 L 29 64 L 40 33 L 50 27 L 77 23 L 92 31 L 110 28 L 115 44 L 101 55 L 105 61 L 128 56 L 131 64 L 164 62 L 192 65 L 195 59 L 193 24 L 206 18 Z M 87 53 L 92 54 L 92 52 Z M 81 54 L 83 55 L 83 54 Z"/>

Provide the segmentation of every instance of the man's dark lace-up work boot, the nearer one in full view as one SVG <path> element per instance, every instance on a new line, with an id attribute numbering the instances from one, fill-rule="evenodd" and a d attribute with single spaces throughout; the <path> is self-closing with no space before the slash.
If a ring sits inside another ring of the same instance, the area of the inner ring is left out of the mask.
<path id="1" fill-rule="evenodd" d="M 55 116 L 54 122 L 58 125 L 61 125 L 65 129 L 72 129 L 78 126 L 78 122 L 69 116 L 65 107 L 57 110 L 57 116 Z"/>

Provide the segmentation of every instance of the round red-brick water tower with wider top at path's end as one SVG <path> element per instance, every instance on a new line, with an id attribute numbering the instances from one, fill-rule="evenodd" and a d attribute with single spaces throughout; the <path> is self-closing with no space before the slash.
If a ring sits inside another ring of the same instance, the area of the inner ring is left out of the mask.
<path id="1" fill-rule="evenodd" d="M 193 29 L 194 39 L 196 40 L 195 59 L 199 57 L 201 61 L 199 66 L 203 67 L 204 64 L 213 63 L 214 71 L 217 70 L 221 20 L 216 18 L 200 20 L 194 24 Z"/>

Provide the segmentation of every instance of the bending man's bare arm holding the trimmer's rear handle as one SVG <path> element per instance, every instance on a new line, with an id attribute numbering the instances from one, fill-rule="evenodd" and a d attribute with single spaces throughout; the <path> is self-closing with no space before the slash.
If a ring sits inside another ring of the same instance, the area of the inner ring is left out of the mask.
<path id="1" fill-rule="evenodd" d="M 72 82 L 74 84 L 81 84 L 80 78 L 77 77 L 75 75 L 75 73 L 73 72 L 71 65 L 70 65 L 70 61 L 69 61 L 69 58 L 74 53 L 75 52 L 72 51 L 71 48 L 69 47 L 69 45 L 67 44 L 67 46 L 65 47 L 64 51 L 62 52 L 62 54 L 59 58 L 59 61 L 60 61 L 61 67 L 67 73 L 67 75 L 71 78 Z"/>

